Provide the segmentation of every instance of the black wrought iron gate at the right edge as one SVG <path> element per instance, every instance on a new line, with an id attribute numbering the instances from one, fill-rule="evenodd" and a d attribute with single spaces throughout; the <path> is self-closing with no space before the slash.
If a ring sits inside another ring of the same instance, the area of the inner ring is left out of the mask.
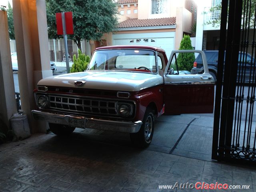
<path id="1" fill-rule="evenodd" d="M 256 0 L 222 0 L 212 159 L 256 163 L 255 16 Z"/>

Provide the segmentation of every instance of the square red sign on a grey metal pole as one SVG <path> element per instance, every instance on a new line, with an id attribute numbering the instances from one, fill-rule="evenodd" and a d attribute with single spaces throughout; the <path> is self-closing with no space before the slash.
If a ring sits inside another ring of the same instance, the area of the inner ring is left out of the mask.
<path id="1" fill-rule="evenodd" d="M 66 33 L 67 33 L 67 35 L 74 34 L 72 12 L 65 12 L 65 21 L 66 21 Z M 61 13 L 56 13 L 56 24 L 57 24 L 57 34 L 58 35 L 63 35 L 63 26 L 62 26 Z"/>

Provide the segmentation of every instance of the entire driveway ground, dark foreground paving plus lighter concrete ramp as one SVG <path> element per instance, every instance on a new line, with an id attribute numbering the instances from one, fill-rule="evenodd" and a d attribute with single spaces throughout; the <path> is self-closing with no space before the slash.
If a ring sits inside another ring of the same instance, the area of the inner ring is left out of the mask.
<path id="1" fill-rule="evenodd" d="M 76 129 L 70 138 L 34 134 L 0 145 L 0 192 L 187 191 L 159 189 L 176 182 L 250 185 L 244 191 L 255 191 L 254 167 L 210 160 L 211 120 L 162 116 L 147 149 L 132 147 L 128 134 L 90 129 Z"/>

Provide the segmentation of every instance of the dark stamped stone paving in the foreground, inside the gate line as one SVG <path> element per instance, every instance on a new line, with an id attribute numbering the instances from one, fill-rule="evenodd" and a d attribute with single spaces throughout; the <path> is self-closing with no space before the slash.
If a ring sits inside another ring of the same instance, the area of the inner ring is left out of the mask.
<path id="1" fill-rule="evenodd" d="M 34 134 L 0 146 L 1 192 L 167 192 L 176 189 L 158 185 L 177 181 L 247 184 L 246 191 L 253 191 L 256 170 L 108 144 L 80 133 L 71 138 Z"/>

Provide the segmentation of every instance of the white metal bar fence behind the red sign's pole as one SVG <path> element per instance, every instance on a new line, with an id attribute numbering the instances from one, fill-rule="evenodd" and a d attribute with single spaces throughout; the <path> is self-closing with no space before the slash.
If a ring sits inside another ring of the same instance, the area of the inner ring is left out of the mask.
<path id="1" fill-rule="evenodd" d="M 63 38 L 49 39 L 50 60 L 53 62 L 65 62 L 65 48 Z M 78 46 L 73 40 L 68 39 L 68 54 L 70 61 L 73 62 L 73 56 L 78 57 Z"/>

